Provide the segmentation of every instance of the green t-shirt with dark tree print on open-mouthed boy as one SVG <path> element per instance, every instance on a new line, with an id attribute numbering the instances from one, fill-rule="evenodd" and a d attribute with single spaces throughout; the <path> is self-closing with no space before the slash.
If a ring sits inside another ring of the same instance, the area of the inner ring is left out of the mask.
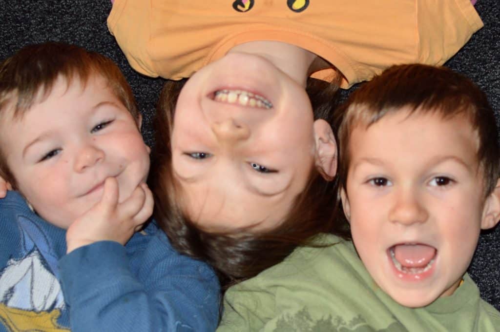
<path id="1" fill-rule="evenodd" d="M 417 309 L 378 288 L 351 242 L 321 237 L 282 263 L 231 287 L 217 332 L 500 332 L 500 313 L 468 275 L 449 297 Z"/>

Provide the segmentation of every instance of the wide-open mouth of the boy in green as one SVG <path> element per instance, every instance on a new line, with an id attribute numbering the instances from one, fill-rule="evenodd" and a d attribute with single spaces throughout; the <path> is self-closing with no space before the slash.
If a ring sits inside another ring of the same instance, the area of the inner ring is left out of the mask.
<path id="1" fill-rule="evenodd" d="M 404 274 L 421 274 L 435 261 L 437 250 L 426 244 L 404 243 L 388 249 L 394 267 Z"/>

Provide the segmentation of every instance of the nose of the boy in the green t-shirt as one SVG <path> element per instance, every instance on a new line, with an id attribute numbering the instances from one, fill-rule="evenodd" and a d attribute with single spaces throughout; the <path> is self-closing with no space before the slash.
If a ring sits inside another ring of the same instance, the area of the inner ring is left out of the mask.
<path id="1" fill-rule="evenodd" d="M 395 202 L 389 211 L 391 222 L 412 225 L 427 220 L 428 212 L 415 193 L 399 192 L 394 194 L 394 198 Z"/>

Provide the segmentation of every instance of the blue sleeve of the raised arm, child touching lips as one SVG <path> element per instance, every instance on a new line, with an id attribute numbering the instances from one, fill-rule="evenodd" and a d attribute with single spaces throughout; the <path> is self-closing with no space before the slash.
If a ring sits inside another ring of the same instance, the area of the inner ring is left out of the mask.
<path id="1" fill-rule="evenodd" d="M 174 251 L 161 231 L 147 236 L 135 257 L 102 241 L 59 261 L 72 332 L 215 331 L 220 299 L 213 271 Z"/>

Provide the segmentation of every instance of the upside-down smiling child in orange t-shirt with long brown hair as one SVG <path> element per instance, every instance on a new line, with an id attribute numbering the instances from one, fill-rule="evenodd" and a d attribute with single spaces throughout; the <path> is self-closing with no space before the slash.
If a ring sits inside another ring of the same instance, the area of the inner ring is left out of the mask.
<path id="1" fill-rule="evenodd" d="M 114 1 L 108 27 L 131 66 L 190 77 L 160 97 L 155 217 L 230 281 L 280 262 L 334 227 L 323 118 L 337 88 L 442 64 L 481 26 L 469 0 Z"/>

